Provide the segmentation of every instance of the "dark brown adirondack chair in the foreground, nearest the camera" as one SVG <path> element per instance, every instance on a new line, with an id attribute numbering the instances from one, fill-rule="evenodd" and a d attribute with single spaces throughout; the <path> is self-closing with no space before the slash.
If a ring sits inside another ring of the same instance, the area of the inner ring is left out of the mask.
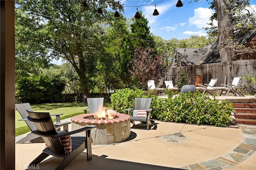
<path id="1" fill-rule="evenodd" d="M 90 137 L 90 130 L 95 128 L 95 125 L 90 125 L 71 132 L 58 132 L 52 122 L 50 113 L 47 112 L 28 112 L 28 120 L 34 123 L 37 130 L 32 131 L 32 134 L 42 136 L 46 143 L 46 147 L 42 153 L 36 157 L 28 167 L 36 167 L 42 160 L 49 155 L 62 158 L 62 161 L 56 166 L 55 170 L 63 170 L 70 162 L 72 162 L 77 156 L 79 156 L 85 149 L 87 152 L 87 161 L 92 159 L 92 138 Z M 70 136 L 82 131 L 86 131 L 86 136 Z M 71 140 L 68 143 L 69 151 L 64 149 L 66 143 L 63 142 L 63 138 Z"/>

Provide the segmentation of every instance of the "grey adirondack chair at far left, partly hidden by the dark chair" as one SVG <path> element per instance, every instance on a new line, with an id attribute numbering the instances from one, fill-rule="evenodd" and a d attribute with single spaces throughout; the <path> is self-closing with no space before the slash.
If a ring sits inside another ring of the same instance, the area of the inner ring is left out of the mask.
<path id="1" fill-rule="evenodd" d="M 22 119 L 19 119 L 18 121 L 25 121 L 31 131 L 36 130 L 36 126 L 34 125 L 34 123 L 28 121 L 28 119 L 27 119 L 28 113 L 26 110 L 33 111 L 30 104 L 29 103 L 21 103 L 21 104 L 16 104 L 15 107 L 16 107 L 16 110 L 20 113 L 20 115 L 22 117 Z M 63 113 L 51 115 L 51 116 L 56 116 L 55 127 L 58 130 L 60 130 L 60 127 L 62 127 L 62 126 L 64 129 L 68 129 L 68 124 L 70 124 L 71 122 L 60 122 L 60 115 L 63 115 Z M 25 143 L 28 141 L 42 142 L 43 139 L 40 136 L 34 135 L 32 133 L 28 133 L 27 136 L 18 140 L 16 143 L 21 144 L 21 143 Z"/>

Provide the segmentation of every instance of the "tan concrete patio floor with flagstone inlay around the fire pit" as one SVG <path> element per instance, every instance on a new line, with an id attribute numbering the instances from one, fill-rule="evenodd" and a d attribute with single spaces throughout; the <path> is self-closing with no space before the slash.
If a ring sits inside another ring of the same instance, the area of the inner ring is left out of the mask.
<path id="1" fill-rule="evenodd" d="M 256 169 L 256 126 L 222 128 L 156 123 L 151 130 L 132 128 L 125 142 L 93 145 L 92 160 L 87 162 L 83 152 L 66 170 Z M 26 169 L 44 146 L 44 143 L 16 144 L 16 170 Z M 48 157 L 39 169 L 51 170 L 58 162 L 59 158 Z"/>

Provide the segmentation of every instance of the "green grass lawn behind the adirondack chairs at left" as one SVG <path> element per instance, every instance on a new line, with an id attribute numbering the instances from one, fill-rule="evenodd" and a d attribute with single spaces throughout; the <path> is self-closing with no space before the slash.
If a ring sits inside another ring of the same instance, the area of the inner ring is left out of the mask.
<path id="1" fill-rule="evenodd" d="M 83 109 L 87 107 L 87 104 L 84 103 L 46 103 L 46 104 L 37 104 L 31 105 L 33 111 L 38 112 L 50 112 L 50 114 L 63 113 L 60 116 L 60 119 L 66 119 L 73 117 L 74 115 L 80 115 L 84 113 Z M 111 109 L 112 105 L 108 101 L 104 101 L 104 107 Z M 52 117 L 54 118 L 54 117 Z M 24 121 L 18 121 L 22 119 L 20 113 L 15 111 L 15 136 L 30 132 L 30 128 Z M 55 118 L 53 119 L 55 121 Z"/>

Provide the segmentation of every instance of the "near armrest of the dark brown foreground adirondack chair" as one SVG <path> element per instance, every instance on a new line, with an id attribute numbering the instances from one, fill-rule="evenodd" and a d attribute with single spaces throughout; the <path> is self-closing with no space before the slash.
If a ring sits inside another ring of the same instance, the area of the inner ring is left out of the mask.
<path id="1" fill-rule="evenodd" d="M 67 136 L 67 135 L 71 135 L 71 134 L 76 134 L 79 132 L 83 132 L 83 131 L 87 131 L 87 130 L 91 130 L 92 128 L 95 128 L 96 125 L 90 125 L 84 128 L 80 128 L 77 130 L 73 130 L 71 132 L 66 132 L 66 133 L 61 133 L 61 134 L 43 134 L 41 132 L 39 132 L 38 130 L 34 130 L 31 133 L 36 134 L 38 136 L 42 136 L 42 137 L 47 137 L 47 138 L 59 138 L 59 137 L 63 137 L 63 136 Z"/>

